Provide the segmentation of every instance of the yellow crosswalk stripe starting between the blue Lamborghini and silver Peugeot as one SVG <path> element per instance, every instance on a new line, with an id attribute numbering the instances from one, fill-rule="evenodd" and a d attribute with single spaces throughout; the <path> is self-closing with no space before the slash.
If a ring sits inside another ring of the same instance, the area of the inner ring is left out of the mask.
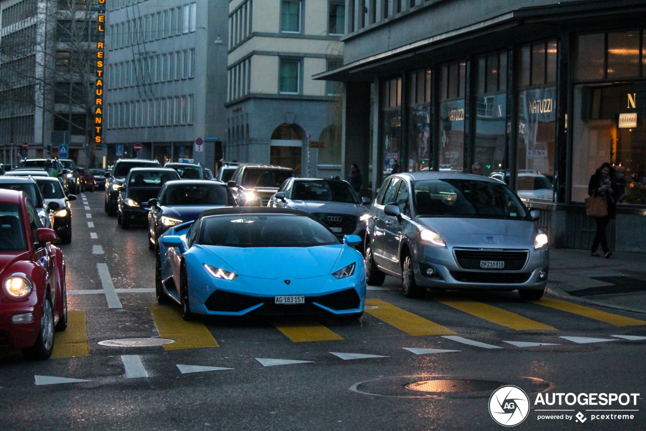
<path id="1" fill-rule="evenodd" d="M 406 310 L 402 310 L 388 302 L 370 299 L 366 300 L 366 305 L 377 305 L 379 308 L 366 309 L 366 313 L 383 320 L 387 324 L 404 331 L 415 337 L 420 335 L 453 335 L 451 329 L 438 325 L 417 315 L 413 315 Z"/>

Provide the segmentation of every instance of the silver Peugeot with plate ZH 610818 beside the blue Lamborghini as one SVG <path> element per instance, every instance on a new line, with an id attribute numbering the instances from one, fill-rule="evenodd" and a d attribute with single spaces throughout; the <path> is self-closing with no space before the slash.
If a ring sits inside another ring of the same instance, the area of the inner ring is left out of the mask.
<path id="1" fill-rule="evenodd" d="M 450 172 L 391 175 L 370 208 L 366 277 L 402 280 L 404 295 L 427 288 L 514 291 L 537 300 L 547 284 L 547 235 L 506 184 Z"/>

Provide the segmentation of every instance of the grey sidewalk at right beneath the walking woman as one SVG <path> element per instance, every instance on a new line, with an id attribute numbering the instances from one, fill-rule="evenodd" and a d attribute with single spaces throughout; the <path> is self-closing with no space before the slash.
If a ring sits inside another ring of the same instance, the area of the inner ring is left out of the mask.
<path id="1" fill-rule="evenodd" d="M 646 314 L 646 255 L 614 252 L 605 259 L 587 250 L 550 249 L 546 293 Z"/>

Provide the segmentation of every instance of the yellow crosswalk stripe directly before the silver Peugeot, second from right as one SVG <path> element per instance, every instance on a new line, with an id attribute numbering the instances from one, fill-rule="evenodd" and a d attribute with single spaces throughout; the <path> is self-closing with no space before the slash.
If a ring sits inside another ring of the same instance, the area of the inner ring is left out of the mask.
<path id="1" fill-rule="evenodd" d="M 557 331 L 555 327 L 536 322 L 526 317 L 506 311 L 493 305 L 483 304 L 482 302 L 465 300 L 465 299 L 436 299 L 441 304 L 448 305 L 464 313 L 488 320 L 500 326 L 510 327 L 516 331 L 536 331 L 544 329 L 546 331 Z"/>

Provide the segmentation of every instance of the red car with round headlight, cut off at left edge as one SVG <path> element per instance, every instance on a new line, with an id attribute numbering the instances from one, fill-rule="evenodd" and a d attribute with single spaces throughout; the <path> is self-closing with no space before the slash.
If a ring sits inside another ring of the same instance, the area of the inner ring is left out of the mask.
<path id="1" fill-rule="evenodd" d="M 0 347 L 47 359 L 67 327 L 65 260 L 23 192 L 0 190 Z"/>

